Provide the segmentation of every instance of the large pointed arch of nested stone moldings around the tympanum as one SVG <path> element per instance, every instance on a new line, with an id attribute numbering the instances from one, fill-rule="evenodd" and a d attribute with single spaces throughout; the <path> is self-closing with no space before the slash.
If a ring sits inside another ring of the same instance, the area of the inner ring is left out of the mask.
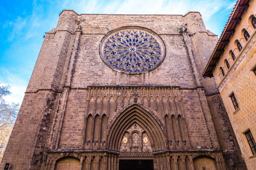
<path id="1" fill-rule="evenodd" d="M 132 104 L 119 114 L 107 133 L 107 147 L 110 150 L 118 150 L 121 137 L 126 129 L 133 123 L 138 123 L 149 135 L 153 150 L 164 150 L 167 148 L 163 128 L 159 121 L 138 104 Z"/>

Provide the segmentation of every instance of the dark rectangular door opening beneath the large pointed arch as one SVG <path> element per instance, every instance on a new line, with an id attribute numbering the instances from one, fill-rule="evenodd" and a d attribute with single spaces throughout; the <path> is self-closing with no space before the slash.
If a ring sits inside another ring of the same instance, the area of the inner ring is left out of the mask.
<path id="1" fill-rule="evenodd" d="M 119 160 L 119 170 L 153 170 L 153 160 Z"/>

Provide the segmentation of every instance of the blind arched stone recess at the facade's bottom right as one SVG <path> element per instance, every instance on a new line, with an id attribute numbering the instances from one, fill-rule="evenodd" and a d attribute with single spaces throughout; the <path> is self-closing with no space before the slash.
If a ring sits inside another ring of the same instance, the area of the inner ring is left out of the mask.
<path id="1" fill-rule="evenodd" d="M 214 158 L 200 155 L 193 159 L 194 170 L 217 170 L 216 161 Z"/>

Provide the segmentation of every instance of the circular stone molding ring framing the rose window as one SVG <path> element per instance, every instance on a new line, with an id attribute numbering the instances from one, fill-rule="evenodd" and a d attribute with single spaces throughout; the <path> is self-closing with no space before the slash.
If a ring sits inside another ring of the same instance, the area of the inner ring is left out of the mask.
<path id="1" fill-rule="evenodd" d="M 139 30 L 142 30 L 142 31 L 147 31 L 148 33 L 152 34 L 153 36 L 155 36 L 155 37 L 159 40 L 159 43 L 160 43 L 161 46 L 162 46 L 162 53 L 163 53 L 162 59 L 161 59 L 161 61 L 160 61 L 158 64 L 154 65 L 154 67 L 152 67 L 150 70 L 142 71 L 142 72 L 139 72 L 139 73 L 137 73 L 137 72 L 121 71 L 121 70 L 118 70 L 118 69 L 115 69 L 115 68 L 111 67 L 111 66 L 109 65 L 109 63 L 107 63 L 107 62 L 104 60 L 104 54 L 103 54 L 102 51 L 101 51 L 101 50 L 102 50 L 102 45 L 104 45 L 103 42 L 104 42 L 111 34 L 117 32 L 117 31 L 127 30 L 127 29 L 139 29 Z M 165 56 L 166 56 L 166 47 L 165 47 L 165 43 L 164 43 L 163 39 L 162 39 L 156 32 L 152 31 L 151 29 L 148 29 L 148 28 L 145 28 L 145 27 L 141 27 L 141 26 L 123 26 L 123 27 L 119 27 L 119 28 L 116 28 L 116 29 L 113 29 L 113 30 L 109 31 L 109 32 L 101 39 L 101 41 L 100 41 L 100 43 L 99 43 L 99 49 L 98 49 L 98 51 L 99 51 L 99 56 L 100 56 L 101 60 L 102 60 L 110 69 L 115 70 L 115 71 L 120 72 L 120 73 L 124 73 L 124 74 L 133 74 L 133 75 L 144 74 L 144 73 L 147 73 L 147 72 L 149 72 L 149 71 L 155 70 L 157 67 L 160 66 L 160 64 L 163 62 L 163 60 L 165 59 Z"/>

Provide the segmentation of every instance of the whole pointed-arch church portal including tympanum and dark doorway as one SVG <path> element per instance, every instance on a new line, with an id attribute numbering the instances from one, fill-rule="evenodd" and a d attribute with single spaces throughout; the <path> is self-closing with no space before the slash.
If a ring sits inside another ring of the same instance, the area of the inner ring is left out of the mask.
<path id="1" fill-rule="evenodd" d="M 117 115 L 107 133 L 107 147 L 120 153 L 117 156 L 119 168 L 116 168 L 119 170 L 151 170 L 157 168 L 154 166 L 160 165 L 160 162 L 161 167 L 167 168 L 167 162 L 162 161 L 166 159 L 162 158 L 165 154 L 157 158 L 152 154 L 166 150 L 166 144 L 160 120 L 138 104 L 132 104 Z M 113 159 L 113 164 L 115 163 L 116 160 Z"/>

